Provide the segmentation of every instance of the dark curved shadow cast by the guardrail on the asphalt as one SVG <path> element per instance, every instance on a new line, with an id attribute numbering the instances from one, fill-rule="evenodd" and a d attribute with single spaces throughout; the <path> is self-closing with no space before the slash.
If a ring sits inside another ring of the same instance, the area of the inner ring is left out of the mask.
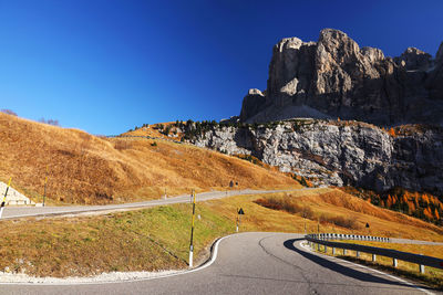
<path id="1" fill-rule="evenodd" d="M 359 281 L 364 281 L 364 282 L 370 282 L 370 283 L 378 283 L 378 284 L 389 284 L 389 285 L 398 285 L 398 286 L 411 287 L 411 285 L 409 285 L 409 284 L 402 283 L 402 282 L 399 282 L 399 281 L 393 281 L 393 280 L 391 281 L 391 280 L 383 278 L 383 277 L 380 277 L 380 276 L 377 276 L 377 275 L 372 275 L 372 274 L 369 274 L 369 273 L 360 272 L 360 271 L 357 271 L 357 270 L 353 270 L 353 268 L 350 268 L 350 267 L 347 267 L 347 266 L 342 266 L 342 265 L 340 265 L 340 264 L 338 264 L 336 262 L 332 262 L 330 260 L 323 259 L 321 256 L 305 252 L 305 251 L 302 251 L 302 250 L 300 250 L 300 249 L 298 249 L 298 247 L 296 247 L 293 245 L 295 242 L 301 241 L 301 240 L 305 240 L 305 239 L 287 240 L 287 241 L 285 241 L 284 245 L 285 245 L 285 247 L 297 252 L 301 256 L 303 256 L 303 257 L 306 257 L 306 259 L 319 264 L 322 267 L 329 268 L 329 270 L 331 270 L 333 272 L 340 273 L 342 275 L 346 275 L 346 276 L 349 276 L 349 277 L 352 277 L 352 278 L 356 278 L 356 280 L 359 280 Z M 426 288 L 426 287 L 423 287 L 423 288 Z"/>

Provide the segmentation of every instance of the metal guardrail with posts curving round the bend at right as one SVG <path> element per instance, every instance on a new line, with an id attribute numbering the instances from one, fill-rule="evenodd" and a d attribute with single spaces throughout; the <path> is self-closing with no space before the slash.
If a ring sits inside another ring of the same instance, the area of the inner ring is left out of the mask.
<path id="1" fill-rule="evenodd" d="M 351 239 L 347 239 L 351 238 Z M 332 254 L 336 253 L 336 247 L 343 249 L 343 254 L 346 255 L 346 250 L 352 250 L 357 252 L 357 257 L 360 256 L 360 252 L 372 254 L 372 261 L 377 261 L 377 255 L 391 257 L 394 267 L 398 266 L 398 260 L 406 261 L 411 263 L 416 263 L 420 265 L 420 272 L 424 273 L 424 265 L 443 270 L 443 260 L 425 256 L 420 254 L 413 254 L 409 252 L 396 251 L 392 249 L 350 244 L 342 242 L 331 242 L 328 240 L 359 240 L 359 241 L 377 241 L 377 242 L 389 242 L 389 238 L 370 236 L 370 235 L 354 235 L 354 234 L 337 234 L 337 233 L 322 233 L 322 234 L 307 234 L 305 239 L 315 247 L 318 244 L 318 250 L 320 245 L 324 245 L 324 252 L 328 251 L 328 246 L 332 247 Z"/>

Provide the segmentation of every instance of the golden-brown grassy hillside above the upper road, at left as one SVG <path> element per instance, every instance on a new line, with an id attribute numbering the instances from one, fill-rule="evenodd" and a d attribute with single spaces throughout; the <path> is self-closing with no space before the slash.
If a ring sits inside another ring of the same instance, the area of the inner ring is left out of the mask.
<path id="1" fill-rule="evenodd" d="M 210 189 L 297 188 L 291 178 L 189 145 L 99 138 L 0 113 L 0 180 L 50 203 L 111 203 Z"/>

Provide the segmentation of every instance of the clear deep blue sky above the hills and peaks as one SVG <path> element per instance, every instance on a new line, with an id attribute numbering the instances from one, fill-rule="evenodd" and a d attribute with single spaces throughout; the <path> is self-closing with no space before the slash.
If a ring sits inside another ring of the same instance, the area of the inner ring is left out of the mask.
<path id="1" fill-rule="evenodd" d="M 238 115 L 272 45 L 323 28 L 435 55 L 443 1 L 0 0 L 0 108 L 92 134 Z"/>

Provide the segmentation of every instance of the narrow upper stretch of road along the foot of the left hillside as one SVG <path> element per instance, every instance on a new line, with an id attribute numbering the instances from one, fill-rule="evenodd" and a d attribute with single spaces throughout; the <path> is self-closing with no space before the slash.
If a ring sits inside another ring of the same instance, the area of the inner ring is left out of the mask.
<path id="1" fill-rule="evenodd" d="M 303 188 L 307 189 L 307 188 Z M 301 190 L 303 190 L 301 189 Z M 274 193 L 289 190 L 231 190 L 231 191 L 209 191 L 197 193 L 197 201 L 206 201 L 213 199 L 220 199 L 225 197 L 233 197 L 239 194 L 254 194 L 254 193 Z M 109 212 L 119 210 L 128 210 L 173 203 L 185 203 L 190 201 L 190 194 L 182 194 L 178 197 L 157 199 L 144 202 L 122 203 L 122 204 L 106 204 L 106 206 L 64 206 L 64 207 L 7 207 L 4 208 L 1 219 L 18 219 L 29 217 L 48 217 L 48 215 L 66 215 L 79 214 L 85 212 Z"/>

